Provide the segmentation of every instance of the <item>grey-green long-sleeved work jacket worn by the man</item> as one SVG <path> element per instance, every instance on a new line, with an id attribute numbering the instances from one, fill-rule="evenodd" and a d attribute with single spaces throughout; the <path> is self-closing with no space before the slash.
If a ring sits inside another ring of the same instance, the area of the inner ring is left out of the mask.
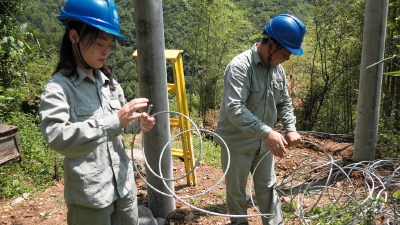
<path id="1" fill-rule="evenodd" d="M 257 44 L 257 43 L 256 43 Z M 230 151 L 269 151 L 264 139 L 277 121 L 286 131 L 296 131 L 286 75 L 283 67 L 265 67 L 256 44 L 236 56 L 226 67 L 216 133 Z M 222 141 L 214 137 L 215 142 Z"/>

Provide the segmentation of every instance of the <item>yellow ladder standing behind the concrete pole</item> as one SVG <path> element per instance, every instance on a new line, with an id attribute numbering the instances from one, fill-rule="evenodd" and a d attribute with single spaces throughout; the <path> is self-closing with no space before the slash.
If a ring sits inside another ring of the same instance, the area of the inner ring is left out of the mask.
<path id="1" fill-rule="evenodd" d="M 172 63 L 172 71 L 174 73 L 174 83 L 168 83 L 168 93 L 174 93 L 176 96 L 178 112 L 183 115 L 189 117 L 189 108 L 187 104 L 186 97 L 186 87 L 185 87 L 185 79 L 183 74 L 183 63 L 182 63 L 182 55 L 183 50 L 165 50 L 165 59 L 171 60 Z M 137 50 L 132 55 L 136 59 L 136 69 L 139 73 L 139 65 L 137 60 Z M 140 85 L 140 81 L 139 81 Z M 178 117 L 179 119 L 170 118 L 169 123 L 171 127 L 179 128 L 180 132 L 184 132 L 191 129 L 189 120 L 185 119 L 182 116 Z M 195 164 L 195 158 L 193 155 L 193 141 L 192 141 L 192 133 L 186 132 L 181 135 L 182 140 L 182 148 L 183 149 L 172 149 L 172 155 L 183 158 L 185 162 L 185 171 L 188 173 L 193 169 Z M 187 184 L 193 185 L 197 184 L 196 170 L 194 170 L 189 176 L 186 177 Z"/>

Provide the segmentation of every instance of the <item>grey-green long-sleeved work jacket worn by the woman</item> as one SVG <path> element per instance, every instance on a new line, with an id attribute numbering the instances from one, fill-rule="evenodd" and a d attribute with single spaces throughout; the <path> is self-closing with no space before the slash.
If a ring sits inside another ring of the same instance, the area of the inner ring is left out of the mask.
<path id="1" fill-rule="evenodd" d="M 116 90 L 111 92 L 109 79 L 101 71 L 93 71 L 96 83 L 79 67 L 72 77 L 63 75 L 69 73 L 66 70 L 54 74 L 44 87 L 39 112 L 44 139 L 51 149 L 65 156 L 66 203 L 105 209 L 129 192 L 136 193 L 136 186 L 121 136 L 124 129 L 117 116 L 126 104 L 122 88 L 114 80 Z M 138 127 L 135 120 L 125 131 Z M 137 220 L 136 194 L 129 201 L 135 201 L 130 205 Z"/>

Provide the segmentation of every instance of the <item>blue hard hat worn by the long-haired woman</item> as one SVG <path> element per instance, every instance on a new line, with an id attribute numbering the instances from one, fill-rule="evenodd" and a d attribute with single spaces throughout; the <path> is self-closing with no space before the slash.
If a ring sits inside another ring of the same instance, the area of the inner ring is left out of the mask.
<path id="1" fill-rule="evenodd" d="M 67 0 L 57 19 L 78 20 L 126 39 L 119 33 L 119 15 L 114 0 Z"/>

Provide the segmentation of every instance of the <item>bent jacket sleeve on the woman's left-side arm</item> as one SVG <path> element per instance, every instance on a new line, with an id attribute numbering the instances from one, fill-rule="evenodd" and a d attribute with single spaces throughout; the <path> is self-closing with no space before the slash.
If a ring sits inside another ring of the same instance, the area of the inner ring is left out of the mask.
<path id="1" fill-rule="evenodd" d="M 67 158 L 86 154 L 108 138 L 113 139 L 122 133 L 116 114 L 72 123 L 70 110 L 63 88 L 57 83 L 48 83 L 39 109 L 42 135 L 51 149 Z M 93 113 L 90 108 L 87 112 Z"/>

